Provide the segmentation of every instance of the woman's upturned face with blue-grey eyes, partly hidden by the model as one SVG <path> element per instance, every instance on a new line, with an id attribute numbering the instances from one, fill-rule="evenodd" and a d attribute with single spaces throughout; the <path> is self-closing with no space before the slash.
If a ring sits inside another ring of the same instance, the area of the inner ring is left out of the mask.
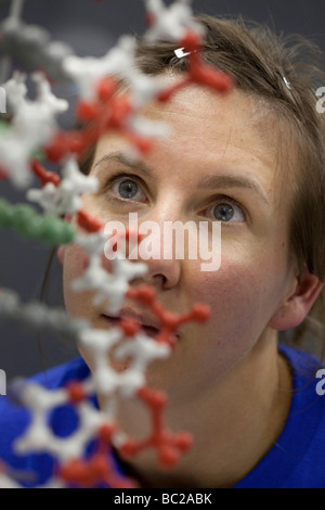
<path id="1" fill-rule="evenodd" d="M 171 136 L 157 142 L 141 165 L 123 156 L 125 139 L 103 137 L 90 171 L 100 191 L 84 196 L 83 204 L 105 222 L 128 225 L 132 212 L 139 225 L 155 221 L 161 231 L 166 221 L 206 221 L 210 231 L 213 222 L 221 224 L 218 270 L 203 271 L 199 258 L 160 257 L 146 260 L 147 273 L 132 283 L 154 285 L 159 302 L 174 313 L 186 313 L 197 302 L 210 307 L 209 321 L 183 326 L 171 357 L 148 370 L 152 385 L 183 399 L 211 390 L 257 345 L 275 337 L 269 324 L 295 284 L 288 253 L 291 191 L 278 168 L 274 127 L 263 124 L 253 100 L 238 91 L 220 97 L 190 87 L 145 113 L 167 123 Z M 70 289 L 84 262 L 81 248 L 66 248 L 67 311 L 95 328 L 109 328 L 93 294 Z M 104 265 L 110 269 L 105 258 Z M 153 320 L 152 313 L 130 299 L 123 308 Z"/>

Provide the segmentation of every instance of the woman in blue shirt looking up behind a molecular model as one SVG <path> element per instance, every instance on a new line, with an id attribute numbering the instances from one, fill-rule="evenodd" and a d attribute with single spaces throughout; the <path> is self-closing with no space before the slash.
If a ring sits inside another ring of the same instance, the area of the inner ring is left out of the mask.
<path id="1" fill-rule="evenodd" d="M 152 451 L 123 469 L 144 487 L 324 487 L 318 361 L 278 342 L 322 297 L 325 130 L 315 69 L 296 64 L 296 50 L 266 29 L 199 21 L 207 30 L 203 59 L 233 77 L 235 88 L 221 97 L 192 85 L 166 104 L 148 104 L 145 114 L 167 122 L 172 137 L 134 164 L 123 156 L 126 141 L 109 133 L 87 169 L 100 188 L 84 196 L 84 211 L 104 221 L 127 222 L 138 213 L 139 224 L 208 221 L 211 229 L 221 222 L 218 270 L 202 271 L 200 260 L 190 257 L 152 258 L 146 275 L 132 282 L 153 285 L 169 310 L 182 314 L 200 301 L 211 317 L 181 328 L 171 357 L 147 372 L 150 385 L 168 393 L 169 426 L 190 431 L 193 447 L 171 471 Z M 141 43 L 138 65 L 173 86 L 186 67 L 186 56 L 174 50 Z M 68 314 L 95 328 L 114 326 L 116 317 L 94 305 L 92 293 L 72 290 L 84 268 L 82 252 L 69 245 L 58 255 Z M 105 265 L 109 271 L 109 260 Z M 131 299 L 120 317 L 157 328 L 148 309 Z M 92 358 L 81 355 L 91 371 Z M 54 386 L 75 368 L 60 370 L 49 375 Z M 118 418 L 135 437 L 148 426 L 133 401 L 121 404 Z"/>

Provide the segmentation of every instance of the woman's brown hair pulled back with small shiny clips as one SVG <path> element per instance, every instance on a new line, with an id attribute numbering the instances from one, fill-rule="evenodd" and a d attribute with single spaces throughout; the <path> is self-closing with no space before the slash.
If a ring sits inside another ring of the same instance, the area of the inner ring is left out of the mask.
<path id="1" fill-rule="evenodd" d="M 301 37 L 276 36 L 270 28 L 253 22 L 196 16 L 205 27 L 202 59 L 235 80 L 238 89 L 256 97 L 278 122 L 295 146 L 298 162 L 295 174 L 295 197 L 291 211 L 290 248 L 300 270 L 325 280 L 325 117 L 316 111 L 315 89 L 325 85 L 320 67 L 321 51 Z M 180 74 L 186 69 L 187 59 L 174 54 L 177 46 L 170 41 L 148 44 L 139 41 L 136 65 L 147 75 Z M 92 154 L 81 162 L 88 173 Z M 292 161 L 288 161 L 288 167 Z M 324 326 L 323 326 L 324 322 Z M 307 341 L 313 349 L 313 339 L 325 346 L 324 291 L 304 322 L 281 340 Z M 300 345 L 300 343 L 299 343 Z"/>

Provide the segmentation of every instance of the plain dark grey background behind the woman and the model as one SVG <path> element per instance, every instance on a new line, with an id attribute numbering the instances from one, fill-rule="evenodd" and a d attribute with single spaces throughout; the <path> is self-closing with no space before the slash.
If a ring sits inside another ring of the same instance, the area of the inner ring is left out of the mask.
<path id="1" fill-rule="evenodd" d="M 242 14 L 277 33 L 302 34 L 325 51 L 324 0 L 194 0 L 192 5 L 196 13 Z M 9 7 L 9 0 L 1 1 L 0 21 L 6 17 Z M 53 39 L 69 43 L 79 55 L 101 56 L 120 35 L 143 33 L 145 28 L 142 0 L 26 0 L 23 18 L 46 27 Z M 68 88 L 58 90 L 73 102 Z M 14 203 L 24 201 L 24 194 L 4 181 L 0 181 L 0 195 Z M 49 250 L 39 243 L 1 231 L 0 285 L 17 291 L 24 302 L 38 297 L 48 256 Z M 62 303 L 60 269 L 54 260 L 49 295 L 53 306 Z M 75 347 L 57 336 L 39 337 L 14 320 L 0 323 L 0 368 L 8 380 L 28 377 L 76 355 Z"/>

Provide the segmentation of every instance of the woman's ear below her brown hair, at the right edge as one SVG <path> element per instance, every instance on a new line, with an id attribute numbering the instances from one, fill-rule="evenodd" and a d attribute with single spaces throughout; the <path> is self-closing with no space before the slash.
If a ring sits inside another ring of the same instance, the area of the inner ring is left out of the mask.
<path id="1" fill-rule="evenodd" d="M 277 331 L 286 331 L 299 326 L 309 314 L 323 286 L 318 278 L 310 272 L 307 272 L 303 278 L 297 278 L 294 293 L 274 314 L 269 327 Z"/>

